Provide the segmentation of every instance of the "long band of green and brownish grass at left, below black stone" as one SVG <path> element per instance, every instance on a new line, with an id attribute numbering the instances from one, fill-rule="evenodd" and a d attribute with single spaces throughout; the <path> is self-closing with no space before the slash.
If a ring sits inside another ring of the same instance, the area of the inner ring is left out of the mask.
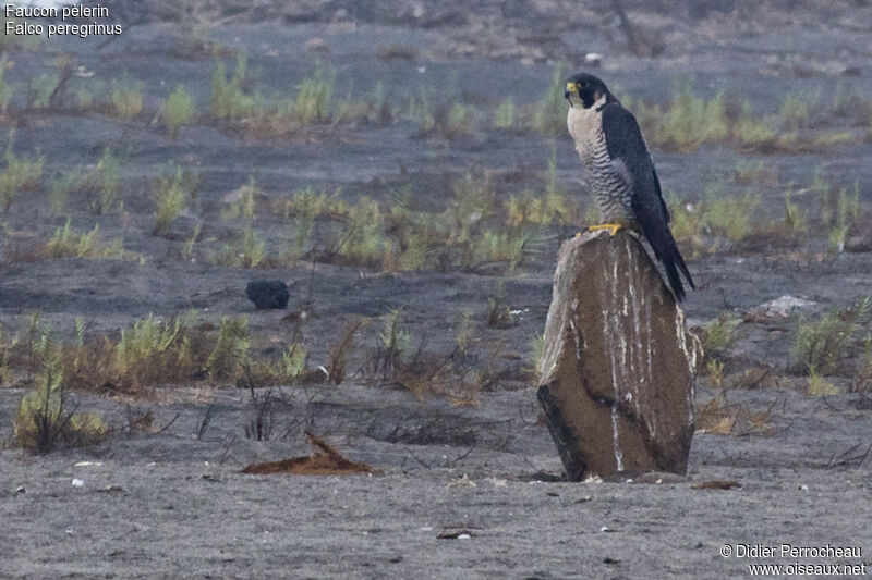
<path id="1" fill-rule="evenodd" d="M 194 325 L 195 312 L 160 320 L 154 314 L 136 320 L 116 334 L 86 336 L 84 319 L 75 321 L 75 336 L 52 343 L 45 354 L 38 313 L 29 317 L 14 336 L 0 333 L 0 378 L 35 377 L 41 380 L 44 361 L 51 361 L 50 384 L 75 391 L 148 395 L 161 385 L 213 384 L 240 379 L 258 384 L 324 381 L 322 371 L 307 369 L 302 335 L 277 357 L 253 358 L 249 322 L 225 318 L 218 329 L 208 322 Z M 60 383 L 60 377 L 63 382 Z M 56 397 L 57 386 L 51 393 Z M 57 416 L 58 414 L 53 414 Z"/>

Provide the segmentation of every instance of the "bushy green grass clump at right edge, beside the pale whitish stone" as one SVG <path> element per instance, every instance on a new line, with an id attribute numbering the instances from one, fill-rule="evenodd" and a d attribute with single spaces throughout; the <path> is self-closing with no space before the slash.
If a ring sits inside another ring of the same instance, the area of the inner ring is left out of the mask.
<path id="1" fill-rule="evenodd" d="M 870 298 L 847 310 L 833 310 L 815 320 L 801 320 L 794 337 L 794 358 L 803 372 L 832 374 L 856 346 L 869 323 Z"/>

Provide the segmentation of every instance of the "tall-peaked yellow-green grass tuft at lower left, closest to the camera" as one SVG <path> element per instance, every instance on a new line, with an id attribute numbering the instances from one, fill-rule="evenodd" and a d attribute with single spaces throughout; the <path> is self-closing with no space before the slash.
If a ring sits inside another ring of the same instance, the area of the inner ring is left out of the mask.
<path id="1" fill-rule="evenodd" d="M 60 346 L 44 331 L 35 345 L 39 372 L 36 387 L 19 403 L 12 425 L 12 443 L 44 455 L 59 445 L 99 443 L 108 433 L 106 421 L 96 414 L 76 412 L 66 398 Z"/>

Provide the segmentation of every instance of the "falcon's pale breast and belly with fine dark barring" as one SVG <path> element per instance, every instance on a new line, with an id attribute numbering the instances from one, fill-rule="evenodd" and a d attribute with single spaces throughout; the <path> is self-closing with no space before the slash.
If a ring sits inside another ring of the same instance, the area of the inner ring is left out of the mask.
<path id="1" fill-rule="evenodd" d="M 576 141 L 584 175 L 591 186 L 601 220 L 630 224 L 633 219 L 632 180 L 620 162 L 613 162 L 603 134 L 603 113 L 596 107 L 569 109 L 567 125 Z"/>

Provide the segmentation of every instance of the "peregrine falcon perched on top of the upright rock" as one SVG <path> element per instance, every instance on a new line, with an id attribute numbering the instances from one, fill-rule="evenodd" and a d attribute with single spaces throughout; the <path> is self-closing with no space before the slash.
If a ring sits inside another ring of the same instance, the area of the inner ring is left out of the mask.
<path id="1" fill-rule="evenodd" d="M 611 235 L 620 229 L 640 232 L 681 301 L 681 274 L 691 288 L 695 286 L 669 230 L 669 210 L 635 118 L 590 74 L 567 78 L 564 96 L 569 101 L 569 134 L 604 222 L 589 230 L 609 230 Z"/>

